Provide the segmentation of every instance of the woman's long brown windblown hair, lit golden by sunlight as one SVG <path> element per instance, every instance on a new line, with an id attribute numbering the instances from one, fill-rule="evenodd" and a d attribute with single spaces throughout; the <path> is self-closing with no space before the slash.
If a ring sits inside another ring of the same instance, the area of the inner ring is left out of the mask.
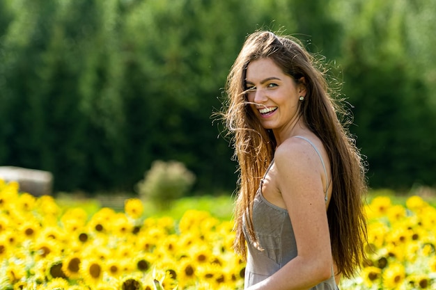
<path id="1" fill-rule="evenodd" d="M 332 255 L 338 272 L 351 277 L 365 257 L 366 217 L 364 162 L 355 140 L 339 115 L 346 113 L 338 92 L 329 86 L 320 58 L 310 54 L 297 39 L 256 31 L 247 37 L 226 83 L 228 99 L 222 113 L 228 134 L 232 136 L 235 158 L 239 163 L 238 198 L 235 204 L 235 251 L 246 255 L 242 231 L 244 216 L 250 239 L 256 241 L 251 210 L 254 195 L 267 166 L 272 162 L 276 140 L 264 129 L 247 104 L 245 74 L 251 61 L 270 58 L 284 73 L 305 79 L 306 100 L 299 114 L 309 129 L 320 138 L 329 156 L 332 170 L 332 198 L 327 209 Z M 341 120 L 340 120 L 341 119 Z"/>

